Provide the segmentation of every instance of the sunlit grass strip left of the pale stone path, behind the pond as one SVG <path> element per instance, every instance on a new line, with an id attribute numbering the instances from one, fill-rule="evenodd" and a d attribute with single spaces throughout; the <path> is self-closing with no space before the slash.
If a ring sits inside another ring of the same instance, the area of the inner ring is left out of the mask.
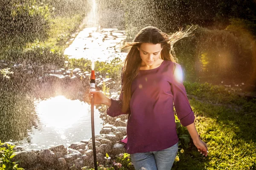
<path id="1" fill-rule="evenodd" d="M 8 61 L 31 60 L 37 63 L 54 63 L 62 67 L 67 59 L 64 50 L 72 42 L 75 32 L 79 29 L 85 14 L 79 13 L 69 16 L 57 16 L 49 19 L 50 28 L 47 31 L 47 39 L 35 39 L 27 42 L 22 48 L 5 46 L 0 59 Z M 80 28 L 81 29 L 81 28 Z M 20 37 L 22 39 L 23 37 Z M 67 43 L 69 41 L 69 43 Z"/>

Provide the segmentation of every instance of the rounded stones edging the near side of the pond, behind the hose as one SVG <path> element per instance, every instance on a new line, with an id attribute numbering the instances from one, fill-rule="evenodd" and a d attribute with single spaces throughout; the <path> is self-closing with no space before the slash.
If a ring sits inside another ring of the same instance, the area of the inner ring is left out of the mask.
<path id="1" fill-rule="evenodd" d="M 128 115 L 113 118 L 102 113 L 102 116 L 106 116 L 109 123 L 103 125 L 100 134 L 95 136 L 96 156 L 99 164 L 105 164 L 106 153 L 114 159 L 120 153 L 126 152 L 124 144 L 118 141 L 125 138 Z M 7 147 L 7 145 L 4 144 L 2 147 Z M 42 150 L 31 150 L 24 146 L 15 146 L 14 149 L 16 156 L 12 161 L 20 161 L 19 167 L 25 170 L 81 170 L 84 166 L 94 167 L 92 139 L 75 142 L 67 148 L 60 144 Z"/>

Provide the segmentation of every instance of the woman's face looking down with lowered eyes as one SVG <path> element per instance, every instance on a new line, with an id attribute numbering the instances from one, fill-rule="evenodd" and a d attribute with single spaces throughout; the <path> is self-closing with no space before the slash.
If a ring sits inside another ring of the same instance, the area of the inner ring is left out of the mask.
<path id="1" fill-rule="evenodd" d="M 157 64 L 157 59 L 161 58 L 160 54 L 163 48 L 161 44 L 142 43 L 140 48 L 140 58 L 142 59 L 141 65 L 148 65 L 154 67 Z"/>

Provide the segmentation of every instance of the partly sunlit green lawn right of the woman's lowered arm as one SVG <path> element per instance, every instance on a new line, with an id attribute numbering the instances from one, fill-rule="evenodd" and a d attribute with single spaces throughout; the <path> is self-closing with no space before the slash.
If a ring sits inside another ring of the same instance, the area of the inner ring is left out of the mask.
<path id="1" fill-rule="evenodd" d="M 174 170 L 254 170 L 256 167 L 255 100 L 239 97 L 229 89 L 208 83 L 184 82 L 196 127 L 207 143 L 209 155 L 195 147 L 179 153 Z M 250 106 L 250 108 L 247 107 Z M 239 109 L 237 109 L 239 108 Z"/>

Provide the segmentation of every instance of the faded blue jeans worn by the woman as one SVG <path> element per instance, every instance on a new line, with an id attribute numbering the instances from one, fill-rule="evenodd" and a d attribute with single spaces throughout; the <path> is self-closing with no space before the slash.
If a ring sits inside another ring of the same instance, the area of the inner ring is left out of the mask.
<path id="1" fill-rule="evenodd" d="M 164 150 L 132 153 L 130 156 L 135 170 L 171 170 L 177 152 L 178 142 Z"/>

